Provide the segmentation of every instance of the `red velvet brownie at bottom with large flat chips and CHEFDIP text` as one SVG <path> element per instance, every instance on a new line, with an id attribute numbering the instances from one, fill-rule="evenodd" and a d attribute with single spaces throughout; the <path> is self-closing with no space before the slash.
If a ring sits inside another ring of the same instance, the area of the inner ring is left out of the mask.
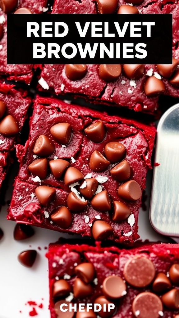
<path id="1" fill-rule="evenodd" d="M 51 318 L 179 315 L 178 244 L 143 245 L 131 250 L 51 244 L 47 258 Z M 95 304 L 102 309 L 95 312 Z M 67 311 L 61 311 L 60 305 Z M 70 306 L 74 307 L 71 312 Z"/>

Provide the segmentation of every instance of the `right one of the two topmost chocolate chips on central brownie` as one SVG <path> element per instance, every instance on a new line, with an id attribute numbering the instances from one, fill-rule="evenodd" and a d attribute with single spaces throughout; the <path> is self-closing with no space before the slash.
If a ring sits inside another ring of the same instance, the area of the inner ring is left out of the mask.
<path id="1" fill-rule="evenodd" d="M 89 140 L 96 143 L 102 142 L 106 134 L 105 126 L 102 121 L 92 123 L 87 128 L 85 128 L 84 132 Z"/>

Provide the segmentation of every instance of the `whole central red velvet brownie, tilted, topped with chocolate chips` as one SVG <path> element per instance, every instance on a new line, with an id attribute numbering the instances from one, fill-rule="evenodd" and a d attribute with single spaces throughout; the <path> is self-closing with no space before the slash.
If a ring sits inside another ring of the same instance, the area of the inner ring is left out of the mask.
<path id="1" fill-rule="evenodd" d="M 39 97 L 8 218 L 134 242 L 155 128 Z"/>

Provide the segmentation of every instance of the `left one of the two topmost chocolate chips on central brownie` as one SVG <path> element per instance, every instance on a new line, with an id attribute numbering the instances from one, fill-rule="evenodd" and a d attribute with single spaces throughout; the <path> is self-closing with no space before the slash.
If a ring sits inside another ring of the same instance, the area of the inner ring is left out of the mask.
<path id="1" fill-rule="evenodd" d="M 60 122 L 50 128 L 52 136 L 62 145 L 67 145 L 71 138 L 71 125 L 67 122 Z"/>

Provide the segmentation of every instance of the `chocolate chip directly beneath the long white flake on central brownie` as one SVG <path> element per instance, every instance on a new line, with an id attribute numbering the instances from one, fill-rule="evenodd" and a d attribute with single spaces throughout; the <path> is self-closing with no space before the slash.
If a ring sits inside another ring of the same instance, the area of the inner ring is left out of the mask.
<path id="1" fill-rule="evenodd" d="M 67 205 L 70 211 L 81 212 L 85 209 L 87 204 L 88 202 L 84 200 L 84 198 L 81 198 L 80 196 L 77 197 L 77 195 L 74 192 L 70 192 L 68 194 Z"/>

